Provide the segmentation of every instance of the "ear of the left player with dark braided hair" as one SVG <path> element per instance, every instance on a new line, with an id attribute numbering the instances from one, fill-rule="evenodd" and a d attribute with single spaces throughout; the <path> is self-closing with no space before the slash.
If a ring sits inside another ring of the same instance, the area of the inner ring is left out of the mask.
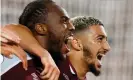
<path id="1" fill-rule="evenodd" d="M 48 33 L 47 25 L 41 23 L 35 24 L 35 30 L 40 35 L 46 35 Z"/>

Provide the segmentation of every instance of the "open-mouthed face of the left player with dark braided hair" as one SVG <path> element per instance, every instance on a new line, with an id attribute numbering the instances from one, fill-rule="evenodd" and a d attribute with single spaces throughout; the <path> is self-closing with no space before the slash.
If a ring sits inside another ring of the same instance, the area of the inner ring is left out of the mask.
<path id="1" fill-rule="evenodd" d="M 67 37 L 71 36 L 74 26 L 67 12 L 55 4 L 48 5 L 47 25 L 49 28 L 49 39 L 54 45 L 53 49 L 59 51 L 65 44 Z"/>

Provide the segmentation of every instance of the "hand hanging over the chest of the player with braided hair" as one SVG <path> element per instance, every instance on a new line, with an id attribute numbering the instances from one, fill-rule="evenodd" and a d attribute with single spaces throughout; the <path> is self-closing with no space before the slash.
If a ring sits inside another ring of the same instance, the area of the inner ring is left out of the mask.
<path id="1" fill-rule="evenodd" d="M 51 55 L 41 58 L 44 70 L 41 72 L 41 78 L 44 80 L 58 80 L 60 71 L 53 61 Z"/>

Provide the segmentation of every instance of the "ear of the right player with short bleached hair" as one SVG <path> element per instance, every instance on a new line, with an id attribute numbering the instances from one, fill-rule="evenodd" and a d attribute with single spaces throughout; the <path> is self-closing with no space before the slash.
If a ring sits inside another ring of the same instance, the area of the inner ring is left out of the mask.
<path id="1" fill-rule="evenodd" d="M 71 41 L 71 45 L 77 51 L 80 51 L 80 50 L 83 49 L 82 43 L 81 43 L 81 41 L 79 39 L 73 39 Z"/>

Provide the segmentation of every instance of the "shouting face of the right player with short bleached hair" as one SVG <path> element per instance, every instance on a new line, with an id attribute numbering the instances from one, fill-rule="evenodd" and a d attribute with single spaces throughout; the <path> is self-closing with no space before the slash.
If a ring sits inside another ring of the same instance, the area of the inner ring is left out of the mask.
<path id="1" fill-rule="evenodd" d="M 106 32 L 103 26 L 93 25 L 83 33 L 83 59 L 87 62 L 89 70 L 98 76 L 101 72 L 101 59 L 110 50 Z"/>

